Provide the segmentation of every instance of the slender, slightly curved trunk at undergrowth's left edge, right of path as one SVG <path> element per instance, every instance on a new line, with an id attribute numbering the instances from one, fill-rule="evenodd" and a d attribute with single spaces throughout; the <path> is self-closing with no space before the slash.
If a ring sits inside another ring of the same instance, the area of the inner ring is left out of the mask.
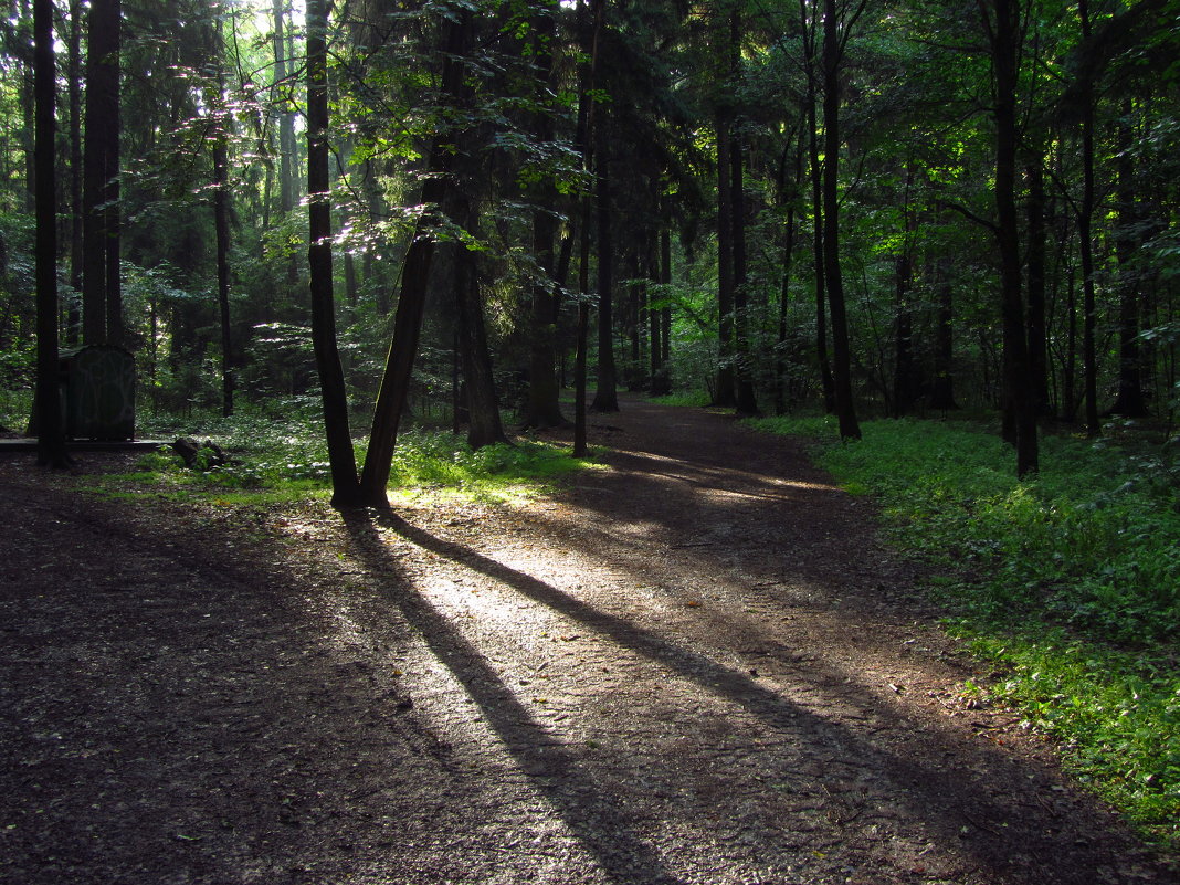
<path id="1" fill-rule="evenodd" d="M 852 353 L 840 270 L 840 57 L 837 0 L 824 0 L 824 276 L 832 315 L 832 381 L 840 439 L 860 439 L 852 400 Z"/>

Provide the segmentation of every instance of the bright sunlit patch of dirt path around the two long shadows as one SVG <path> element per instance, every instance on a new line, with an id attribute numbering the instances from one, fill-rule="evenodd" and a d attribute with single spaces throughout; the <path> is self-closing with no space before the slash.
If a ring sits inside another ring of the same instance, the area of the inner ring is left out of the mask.
<path id="1" fill-rule="evenodd" d="M 533 550 L 530 558 L 517 549 L 484 551 L 446 540 L 398 518 L 385 524 L 395 536 L 386 535 L 382 555 L 396 549 L 400 560 L 399 545 L 408 542 L 451 576 L 419 579 L 400 603 L 448 671 L 427 680 L 435 683 L 426 703 L 434 727 L 483 760 L 473 762 L 481 769 L 505 763 L 492 762 L 490 753 L 506 753 L 579 841 L 589 840 L 599 863 L 610 853 L 594 841 L 598 814 L 607 805 L 631 802 L 667 806 L 667 818 L 658 826 L 620 822 L 622 832 L 611 838 L 645 846 L 644 863 L 662 866 L 670 880 L 673 846 L 682 841 L 732 852 L 734 840 L 749 840 L 752 871 L 758 852 L 789 852 L 785 819 L 794 828 L 863 828 L 894 859 L 923 857 L 935 846 L 977 858 L 969 864 L 1002 857 L 1010 813 L 984 782 L 988 772 L 1021 763 L 970 735 L 919 726 L 899 701 L 897 683 L 887 684 L 898 678 L 891 671 L 858 674 L 838 660 L 818 660 L 814 650 L 796 657 L 759 617 L 765 607 L 745 616 L 743 604 L 759 603 L 739 585 L 715 584 L 717 601 L 739 599 L 716 608 L 708 594 L 649 586 L 649 594 L 667 597 L 654 608 L 637 575 L 621 576 L 605 551 L 570 551 L 575 563 L 563 589 L 539 577 L 558 569 L 559 546 Z M 532 542 L 544 544 L 545 533 Z M 487 598 L 468 599 L 464 576 L 492 578 L 492 590 L 479 594 Z M 625 603 L 599 604 L 594 588 L 603 579 L 623 590 Z M 628 582 L 635 592 L 627 592 Z M 616 610 L 624 604 L 634 614 Z M 453 617 L 474 609 L 481 617 Z M 654 611 L 661 612 L 657 625 L 649 623 Z M 503 612 L 512 612 L 511 624 Z M 833 625 L 840 617 L 833 609 Z M 727 647 L 734 636 L 742 641 Z M 450 693 L 441 689 L 447 680 L 457 681 Z M 867 736 L 883 732 L 891 736 Z M 916 741 L 920 753 L 910 746 Z M 944 759 L 964 754 L 978 775 L 944 768 Z M 553 792 L 555 778 L 563 791 Z M 581 787 L 570 787 L 571 779 Z M 970 795 L 972 820 L 950 807 L 956 791 Z M 570 793 L 578 796 L 572 804 Z M 813 866 L 806 857 L 799 864 Z M 615 876 L 634 880 L 617 867 Z M 1032 881 L 1018 871 L 1009 880 Z"/>

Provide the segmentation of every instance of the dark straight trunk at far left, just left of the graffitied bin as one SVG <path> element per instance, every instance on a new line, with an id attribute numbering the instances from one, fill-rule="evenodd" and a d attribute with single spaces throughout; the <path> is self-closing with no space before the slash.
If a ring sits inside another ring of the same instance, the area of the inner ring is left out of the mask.
<path id="1" fill-rule="evenodd" d="M 34 0 L 33 96 L 37 209 L 37 459 L 42 466 L 68 464 L 58 386 L 58 230 L 54 175 L 53 2 Z"/>

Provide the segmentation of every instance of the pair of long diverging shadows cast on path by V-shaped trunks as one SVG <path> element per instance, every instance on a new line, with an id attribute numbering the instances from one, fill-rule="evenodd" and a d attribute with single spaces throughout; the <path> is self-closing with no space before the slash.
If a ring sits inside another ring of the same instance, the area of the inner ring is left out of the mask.
<path id="1" fill-rule="evenodd" d="M 601 611 L 543 581 L 461 544 L 441 539 L 396 516 L 378 516 L 375 524 L 369 517 L 353 516 L 348 519 L 356 548 L 372 568 L 388 571 L 391 564 L 395 565 L 376 525 L 391 527 L 424 550 L 502 582 L 533 602 L 571 618 L 602 640 L 695 682 L 703 690 L 742 707 L 769 729 L 788 739 L 798 740 L 802 730 L 806 741 L 839 747 L 844 756 L 860 760 L 861 766 L 886 780 L 887 795 L 876 796 L 878 801 L 887 799 L 904 806 L 912 819 L 924 821 L 929 831 L 937 834 L 936 839 L 944 850 L 970 857 L 983 876 L 978 879 L 981 881 L 1090 885 L 1100 880 L 1095 878 L 1095 871 L 1108 867 L 1121 852 L 1134 848 L 1132 843 L 1113 833 L 1095 840 L 1093 824 L 1075 832 L 1070 818 L 1036 802 L 1020 802 L 1018 813 L 1014 813 L 1010 801 L 1014 796 L 1005 796 L 1002 791 L 1010 789 L 1010 785 L 1024 784 L 1029 778 L 1043 776 L 1043 772 L 998 749 L 966 747 L 937 733 L 922 735 L 923 746 L 932 750 L 926 755 L 879 746 L 845 723 L 830 721 L 792 703 L 742 671 L 670 642 L 625 618 Z M 412 590 L 401 594 L 394 602 L 421 631 L 439 660 L 464 684 L 522 768 L 616 880 L 675 881 L 651 847 L 636 835 L 625 819 L 618 818 L 610 798 L 595 789 L 588 773 L 569 750 L 555 746 L 520 748 L 522 739 L 526 742 L 530 734 L 536 734 L 530 713 L 480 651 L 444 615 Z M 866 690 L 845 686 L 844 691 L 859 691 L 858 702 L 879 717 L 891 720 L 892 728 L 898 732 L 920 732 L 923 728 L 922 722 L 907 720 L 899 709 L 881 703 Z M 966 756 L 970 763 L 983 765 L 992 778 L 968 782 L 956 768 L 948 769 L 938 763 L 946 755 Z M 1001 785 L 999 794 L 994 794 L 997 792 L 991 788 L 995 785 Z M 577 799 L 570 798 L 571 786 Z M 1101 812 L 1092 809 L 1089 813 L 1096 815 Z M 1014 846 L 1020 852 L 1018 858 L 1014 858 Z"/>

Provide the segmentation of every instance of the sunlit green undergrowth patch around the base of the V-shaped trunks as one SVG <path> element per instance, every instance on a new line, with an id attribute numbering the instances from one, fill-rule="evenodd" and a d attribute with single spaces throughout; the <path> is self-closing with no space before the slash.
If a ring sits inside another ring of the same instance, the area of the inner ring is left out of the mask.
<path id="1" fill-rule="evenodd" d="M 169 498 L 251 504 L 330 496 L 327 445 L 312 419 L 247 414 L 206 419 L 199 431 L 183 434 L 175 426 L 152 430 L 160 437 L 214 442 L 230 460 L 216 464 L 215 452 L 208 448 L 194 467 L 185 467 L 179 455 L 162 446 L 140 458 L 135 473 L 105 479 L 101 491 L 129 493 L 120 486 L 130 484 Z M 358 465 L 363 460 L 362 444 L 358 444 L 356 459 Z M 549 442 L 523 439 L 472 450 L 450 432 L 411 430 L 398 438 L 388 492 L 392 502 L 447 497 L 503 503 L 536 494 L 560 477 L 592 466 Z"/>

